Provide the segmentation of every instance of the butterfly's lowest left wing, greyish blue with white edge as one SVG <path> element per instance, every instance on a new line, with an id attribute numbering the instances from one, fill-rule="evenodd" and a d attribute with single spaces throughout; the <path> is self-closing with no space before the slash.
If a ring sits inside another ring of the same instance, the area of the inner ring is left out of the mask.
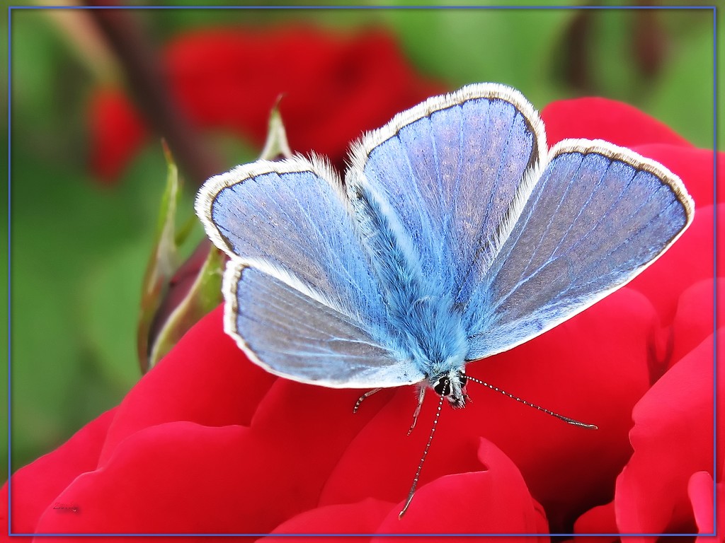
<path id="1" fill-rule="evenodd" d="M 345 388 L 391 387 L 424 377 L 283 270 L 235 259 L 224 283 L 226 331 L 274 374 Z"/>

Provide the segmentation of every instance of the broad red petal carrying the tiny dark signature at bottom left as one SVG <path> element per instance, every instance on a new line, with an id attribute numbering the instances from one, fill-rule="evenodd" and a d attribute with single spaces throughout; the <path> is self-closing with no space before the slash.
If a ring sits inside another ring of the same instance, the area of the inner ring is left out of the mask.
<path id="1" fill-rule="evenodd" d="M 138 429 L 59 496 L 78 504 L 82 518 L 47 512 L 41 529 L 268 533 L 318 503 L 359 431 L 355 422 L 366 422 L 352 417 L 355 397 L 278 379 L 250 428 L 170 422 Z M 345 417 L 352 424 L 336 424 Z"/>

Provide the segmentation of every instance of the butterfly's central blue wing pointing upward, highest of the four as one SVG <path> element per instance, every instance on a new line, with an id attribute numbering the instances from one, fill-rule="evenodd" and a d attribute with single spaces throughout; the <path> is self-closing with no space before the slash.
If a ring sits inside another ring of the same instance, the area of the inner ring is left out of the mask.
<path id="1" fill-rule="evenodd" d="M 381 202 L 418 274 L 454 292 L 472 267 L 492 261 L 497 229 L 545 153 L 541 119 L 526 98 L 481 83 L 430 98 L 365 135 L 345 182 Z"/>

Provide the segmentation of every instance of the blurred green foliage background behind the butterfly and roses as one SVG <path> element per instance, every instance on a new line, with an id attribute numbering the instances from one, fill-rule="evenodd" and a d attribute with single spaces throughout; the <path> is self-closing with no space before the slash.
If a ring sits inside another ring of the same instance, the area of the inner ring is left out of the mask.
<path id="1" fill-rule="evenodd" d="M 111 49 L 99 46 L 103 37 L 88 12 L 59 17 L 61 11 L 13 9 L 9 21 L 13 471 L 117 405 L 140 378 L 141 279 L 165 182 L 157 140 L 115 184 L 103 185 L 91 174 L 89 100 L 102 84 L 128 81 Z M 712 10 L 181 9 L 129 15 L 156 48 L 202 28 L 243 32 L 299 20 L 332 30 L 376 26 L 394 36 L 415 70 L 450 89 L 497 81 L 520 89 L 538 109 L 575 96 L 615 98 L 696 146 L 713 142 Z M 7 47 L 7 39 L 2 43 Z M 204 138 L 218 146 L 224 167 L 260 151 L 228 134 Z M 185 189 L 181 221 L 192 213 L 194 183 Z M 0 224 L 6 244 L 7 223 Z M 198 227 L 189 248 L 201 237 Z"/>

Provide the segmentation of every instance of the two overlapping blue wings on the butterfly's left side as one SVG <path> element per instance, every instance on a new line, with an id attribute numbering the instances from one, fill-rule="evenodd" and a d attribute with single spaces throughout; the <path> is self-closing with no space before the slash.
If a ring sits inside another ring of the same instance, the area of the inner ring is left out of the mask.
<path id="1" fill-rule="evenodd" d="M 326 164 L 299 157 L 257 161 L 204 184 L 196 213 L 231 256 L 225 329 L 253 361 L 297 381 L 421 381 L 423 374 L 396 355 L 344 198 Z"/>

